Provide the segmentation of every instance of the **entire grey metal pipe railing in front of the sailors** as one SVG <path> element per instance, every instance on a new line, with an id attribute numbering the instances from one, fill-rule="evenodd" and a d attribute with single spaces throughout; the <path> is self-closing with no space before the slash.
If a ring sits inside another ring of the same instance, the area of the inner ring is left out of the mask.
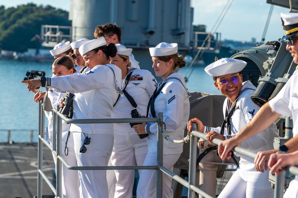
<path id="1" fill-rule="evenodd" d="M 189 180 L 186 181 L 183 178 L 179 177 L 177 174 L 169 171 L 165 167 L 163 167 L 163 113 L 158 113 L 157 118 L 125 118 L 125 119 L 68 119 L 63 114 L 57 112 L 57 110 L 53 111 L 53 146 L 51 146 L 44 139 L 44 111 L 42 109 L 41 104 L 39 104 L 39 117 L 38 117 L 38 190 L 37 190 L 37 198 L 42 197 L 42 179 L 45 180 L 47 185 L 53 191 L 57 198 L 61 198 L 61 172 L 62 172 L 62 163 L 66 166 L 67 169 L 70 170 L 136 170 L 136 169 L 156 169 L 157 170 L 157 188 L 156 188 L 156 197 L 163 197 L 163 173 L 173 178 L 177 182 L 181 183 L 183 186 L 188 188 L 188 197 L 194 198 L 194 192 L 202 195 L 206 198 L 214 198 L 206 192 L 202 191 L 200 188 L 195 186 L 195 178 L 196 178 L 196 153 L 197 153 L 197 137 L 206 139 L 206 135 L 200 133 L 197 130 L 196 125 L 193 125 L 193 131 L 190 136 L 190 156 L 189 156 Z M 157 166 L 70 166 L 61 156 L 62 152 L 62 120 L 66 123 L 73 124 L 92 124 L 92 123 L 139 123 L 139 122 L 157 122 L 160 127 L 157 127 Z M 141 120 L 141 121 L 140 121 Z M 57 135 L 57 136 L 56 136 Z M 219 144 L 219 140 L 217 138 L 213 139 L 214 144 Z M 56 187 L 50 182 L 47 176 L 42 171 L 42 155 L 43 155 L 43 144 L 45 144 L 56 156 L 57 156 L 57 164 L 56 164 Z M 256 153 L 251 152 L 249 150 L 243 149 L 239 146 L 234 148 L 234 151 L 248 156 L 250 158 L 255 158 Z M 295 166 L 287 167 L 283 169 L 284 171 L 288 171 L 292 174 L 298 175 L 298 168 Z M 284 180 L 284 172 L 283 174 L 279 174 L 275 183 L 274 188 L 274 198 L 280 198 L 283 195 L 283 182 Z"/>

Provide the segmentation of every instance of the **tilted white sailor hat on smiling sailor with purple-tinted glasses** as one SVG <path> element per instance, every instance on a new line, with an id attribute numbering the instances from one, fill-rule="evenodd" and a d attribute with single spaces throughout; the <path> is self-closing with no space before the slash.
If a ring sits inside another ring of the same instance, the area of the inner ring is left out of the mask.
<path id="1" fill-rule="evenodd" d="M 243 70 L 246 66 L 246 62 L 243 60 L 222 58 L 220 60 L 211 63 L 205 68 L 207 74 L 213 77 L 218 77 L 226 74 L 233 74 Z"/>

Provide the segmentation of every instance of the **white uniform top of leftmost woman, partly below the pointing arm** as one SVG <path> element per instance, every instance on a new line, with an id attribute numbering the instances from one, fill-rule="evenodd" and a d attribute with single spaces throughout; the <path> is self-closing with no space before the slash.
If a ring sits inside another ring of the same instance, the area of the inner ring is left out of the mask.
<path id="1" fill-rule="evenodd" d="M 51 101 L 53 109 L 57 109 L 57 105 L 60 105 L 60 102 L 65 95 L 66 95 L 66 92 L 57 92 L 52 89 L 48 90 L 48 97 Z M 70 125 L 66 124 L 65 121 L 62 120 L 62 146 L 65 145 L 69 127 Z M 73 147 L 73 141 L 69 141 L 67 145 Z"/>

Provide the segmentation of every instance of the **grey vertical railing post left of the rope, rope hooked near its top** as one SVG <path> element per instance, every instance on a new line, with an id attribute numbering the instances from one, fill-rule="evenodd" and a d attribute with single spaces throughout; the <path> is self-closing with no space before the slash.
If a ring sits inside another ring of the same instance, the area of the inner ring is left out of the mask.
<path id="1" fill-rule="evenodd" d="M 157 117 L 160 119 L 160 128 L 163 129 L 163 113 L 158 113 Z M 163 172 L 159 166 L 163 166 L 163 134 L 157 126 L 157 180 L 156 180 L 156 197 L 163 197 Z"/>

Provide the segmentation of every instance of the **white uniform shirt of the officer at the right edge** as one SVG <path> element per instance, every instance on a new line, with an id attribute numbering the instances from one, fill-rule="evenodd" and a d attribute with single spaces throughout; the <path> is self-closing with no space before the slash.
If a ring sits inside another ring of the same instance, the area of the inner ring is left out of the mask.
<path id="1" fill-rule="evenodd" d="M 277 113 L 293 116 L 293 137 L 298 134 L 298 70 L 294 71 L 285 86 L 273 99 L 269 101 L 270 107 Z"/>

